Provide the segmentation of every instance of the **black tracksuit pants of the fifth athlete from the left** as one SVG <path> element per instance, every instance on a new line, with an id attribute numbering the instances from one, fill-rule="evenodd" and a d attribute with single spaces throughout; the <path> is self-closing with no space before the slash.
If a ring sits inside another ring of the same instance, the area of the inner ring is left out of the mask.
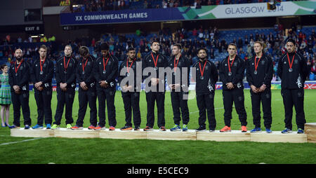
<path id="1" fill-rule="evenodd" d="M 109 125 L 115 127 L 117 125 L 114 98 L 115 88 L 97 88 L 98 102 L 99 102 L 99 123 L 101 127 L 105 126 L 105 100 L 107 101 L 107 118 Z"/>

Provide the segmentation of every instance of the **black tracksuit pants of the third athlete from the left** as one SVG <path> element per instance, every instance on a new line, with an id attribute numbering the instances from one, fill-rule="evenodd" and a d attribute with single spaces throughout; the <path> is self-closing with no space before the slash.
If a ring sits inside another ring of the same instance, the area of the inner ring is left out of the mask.
<path id="1" fill-rule="evenodd" d="M 57 87 L 57 107 L 54 124 L 60 125 L 65 106 L 66 124 L 72 124 L 74 122 L 74 119 L 72 118 L 72 104 L 74 103 L 75 94 L 74 88 L 67 88 L 67 91 L 64 92 L 59 86 Z"/>

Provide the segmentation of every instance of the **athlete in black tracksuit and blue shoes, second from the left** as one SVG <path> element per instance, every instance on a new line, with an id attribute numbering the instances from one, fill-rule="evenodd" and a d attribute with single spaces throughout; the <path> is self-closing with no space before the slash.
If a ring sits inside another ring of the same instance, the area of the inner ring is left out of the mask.
<path id="1" fill-rule="evenodd" d="M 54 74 L 54 63 L 49 57 L 45 57 L 43 61 L 38 58 L 33 62 L 31 69 L 31 81 L 34 85 L 34 97 L 37 102 L 37 124 L 43 126 L 45 117 L 45 124 L 51 125 L 53 121 L 51 111 L 53 90 L 51 81 Z M 38 89 L 35 87 L 35 83 L 39 82 L 42 84 Z"/>

